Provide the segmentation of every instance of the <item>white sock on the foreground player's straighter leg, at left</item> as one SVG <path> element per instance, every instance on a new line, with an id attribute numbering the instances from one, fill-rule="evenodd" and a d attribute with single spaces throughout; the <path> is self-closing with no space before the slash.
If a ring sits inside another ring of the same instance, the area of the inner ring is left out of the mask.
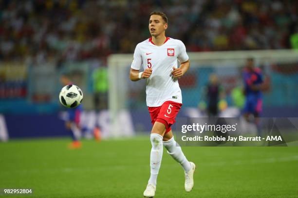
<path id="1" fill-rule="evenodd" d="M 156 186 L 158 171 L 163 157 L 163 137 L 157 133 L 151 133 L 151 153 L 150 153 L 150 179 L 149 184 Z"/>

